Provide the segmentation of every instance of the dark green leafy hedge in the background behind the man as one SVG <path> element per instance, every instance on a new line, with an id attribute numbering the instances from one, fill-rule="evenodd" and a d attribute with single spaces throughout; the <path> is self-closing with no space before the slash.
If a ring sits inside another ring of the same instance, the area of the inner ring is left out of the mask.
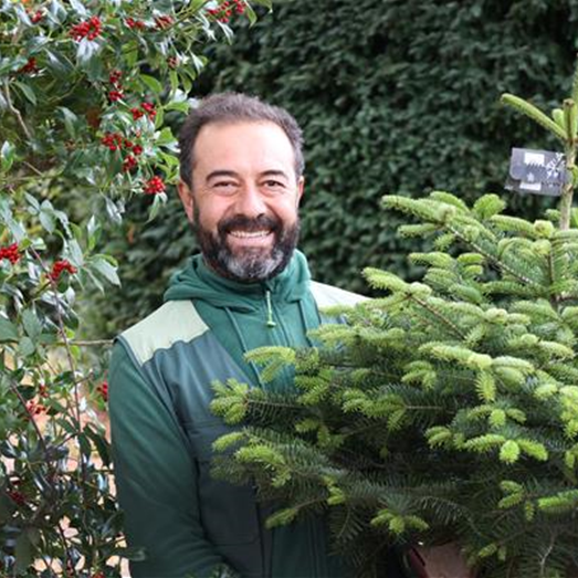
<path id="1" fill-rule="evenodd" d="M 512 146 L 556 149 L 498 97 L 548 108 L 567 93 L 577 21 L 576 0 L 279 1 L 232 50 L 211 49 L 195 95 L 243 91 L 296 116 L 307 162 L 301 246 L 316 279 L 367 293 L 361 267 L 411 277 L 404 255 L 420 250 L 397 238 L 382 195 L 443 189 L 470 202 L 503 192 Z M 547 202 L 508 207 L 535 218 Z M 176 193 L 155 222 L 144 224 L 145 212 L 130 211 L 113 248 L 124 287 L 97 307 L 101 335 L 156 307 L 196 249 Z"/>

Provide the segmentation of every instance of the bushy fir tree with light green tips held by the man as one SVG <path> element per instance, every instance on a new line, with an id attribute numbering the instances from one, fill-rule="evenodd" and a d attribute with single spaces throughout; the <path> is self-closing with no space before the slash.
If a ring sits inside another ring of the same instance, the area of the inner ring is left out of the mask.
<path id="1" fill-rule="evenodd" d="M 563 141 L 558 211 L 385 197 L 417 221 L 400 234 L 432 242 L 409 255 L 422 282 L 366 270 L 383 296 L 329 312 L 347 323 L 317 347 L 249 355 L 264 380 L 294 366 L 293 391 L 216 385 L 213 410 L 238 425 L 216 473 L 279 504 L 271 526 L 325 513 L 360 576 L 382 576 L 391 545 L 448 540 L 480 577 L 578 574 L 578 75 L 551 118 L 503 102 Z"/>

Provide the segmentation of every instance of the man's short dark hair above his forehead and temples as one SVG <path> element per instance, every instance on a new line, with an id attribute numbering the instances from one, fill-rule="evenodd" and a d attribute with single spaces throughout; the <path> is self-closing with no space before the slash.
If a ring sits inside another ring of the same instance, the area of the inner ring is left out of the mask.
<path id="1" fill-rule="evenodd" d="M 303 175 L 303 132 L 287 111 L 241 93 L 219 93 L 201 101 L 187 117 L 179 133 L 180 178 L 192 187 L 192 150 L 201 128 L 213 123 L 270 122 L 281 127 L 295 155 L 295 174 Z"/>

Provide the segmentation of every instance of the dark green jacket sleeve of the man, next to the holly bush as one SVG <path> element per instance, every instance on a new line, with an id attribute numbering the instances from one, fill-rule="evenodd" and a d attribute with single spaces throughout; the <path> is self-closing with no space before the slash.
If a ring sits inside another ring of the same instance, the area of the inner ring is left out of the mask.
<path id="1" fill-rule="evenodd" d="M 203 534 L 197 469 L 176 416 L 117 343 L 113 350 L 109 412 L 118 501 L 127 542 L 146 559 L 133 578 L 231 576 Z M 222 572 L 217 568 L 222 567 Z"/>

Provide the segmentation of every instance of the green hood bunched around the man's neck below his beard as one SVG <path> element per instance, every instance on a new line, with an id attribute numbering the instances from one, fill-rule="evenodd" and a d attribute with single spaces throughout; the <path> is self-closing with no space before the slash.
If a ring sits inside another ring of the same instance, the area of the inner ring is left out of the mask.
<path id="1" fill-rule="evenodd" d="M 299 251 L 294 252 L 288 265 L 279 275 L 256 283 L 224 279 L 211 271 L 199 254 L 171 277 L 165 301 L 201 299 L 213 307 L 250 312 L 259 307 L 267 292 L 276 303 L 301 301 L 309 281 L 307 260 Z"/>

